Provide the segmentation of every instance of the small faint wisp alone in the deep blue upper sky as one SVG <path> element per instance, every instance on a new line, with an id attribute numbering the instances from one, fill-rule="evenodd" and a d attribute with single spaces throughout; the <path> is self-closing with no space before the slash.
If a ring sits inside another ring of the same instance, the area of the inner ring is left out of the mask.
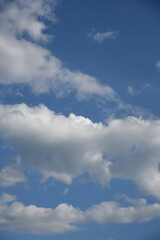
<path id="1" fill-rule="evenodd" d="M 118 32 L 108 31 L 108 32 L 96 32 L 93 30 L 87 34 L 87 37 L 92 38 L 93 41 L 102 43 L 105 39 L 114 39 L 117 37 Z"/>

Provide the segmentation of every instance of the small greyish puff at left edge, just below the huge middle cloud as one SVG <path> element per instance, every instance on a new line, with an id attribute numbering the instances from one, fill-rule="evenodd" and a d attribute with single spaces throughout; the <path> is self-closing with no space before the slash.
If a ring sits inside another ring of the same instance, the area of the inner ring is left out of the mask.
<path id="1" fill-rule="evenodd" d="M 14 167 L 7 166 L 0 171 L 0 185 L 2 187 L 14 186 L 18 182 L 25 181 L 24 174 Z"/>

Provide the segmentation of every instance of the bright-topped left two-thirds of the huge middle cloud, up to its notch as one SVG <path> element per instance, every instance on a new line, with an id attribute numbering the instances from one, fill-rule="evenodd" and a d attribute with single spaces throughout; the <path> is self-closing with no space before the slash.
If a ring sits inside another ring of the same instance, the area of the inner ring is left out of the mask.
<path id="1" fill-rule="evenodd" d="M 88 172 L 93 180 L 108 183 L 108 163 L 97 139 L 105 130 L 101 123 L 56 115 L 43 105 L 1 105 L 0 115 L 2 138 L 18 151 L 24 168 L 44 172 L 43 180 L 53 176 L 70 184 L 73 177 Z"/>

